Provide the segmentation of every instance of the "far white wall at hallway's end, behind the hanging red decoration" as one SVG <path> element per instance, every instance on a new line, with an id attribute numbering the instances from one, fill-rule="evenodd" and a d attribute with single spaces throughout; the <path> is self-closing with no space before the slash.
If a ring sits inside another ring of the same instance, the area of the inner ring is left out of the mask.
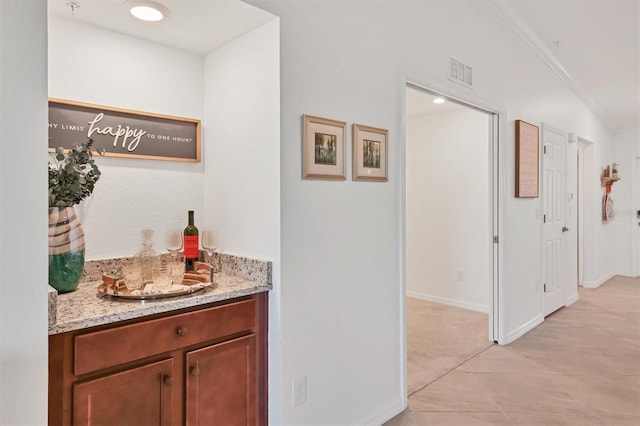
<path id="1" fill-rule="evenodd" d="M 612 259 L 614 272 L 628 277 L 638 275 L 636 268 L 639 220 L 636 217 L 636 211 L 640 209 L 640 200 L 638 200 L 640 170 L 638 170 L 637 159 L 639 153 L 640 133 L 637 129 L 616 134 L 611 161 L 619 164 L 618 175 L 621 179 L 614 183 L 611 189 L 614 217 L 608 226 L 613 233 L 611 244 L 616 247 Z M 630 235 L 632 238 L 629 238 Z"/>

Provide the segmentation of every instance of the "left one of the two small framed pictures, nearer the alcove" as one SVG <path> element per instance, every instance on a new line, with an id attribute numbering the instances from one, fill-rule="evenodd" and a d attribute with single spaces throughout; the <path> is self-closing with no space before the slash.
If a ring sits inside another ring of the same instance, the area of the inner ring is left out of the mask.
<path id="1" fill-rule="evenodd" d="M 347 123 L 303 115 L 303 179 L 345 180 Z"/>

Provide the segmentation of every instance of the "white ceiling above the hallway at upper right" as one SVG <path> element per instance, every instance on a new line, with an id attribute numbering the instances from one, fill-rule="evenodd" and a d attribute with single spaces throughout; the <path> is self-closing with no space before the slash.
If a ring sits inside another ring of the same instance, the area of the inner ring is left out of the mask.
<path id="1" fill-rule="evenodd" d="M 640 127 L 639 0 L 487 0 L 614 131 Z"/>

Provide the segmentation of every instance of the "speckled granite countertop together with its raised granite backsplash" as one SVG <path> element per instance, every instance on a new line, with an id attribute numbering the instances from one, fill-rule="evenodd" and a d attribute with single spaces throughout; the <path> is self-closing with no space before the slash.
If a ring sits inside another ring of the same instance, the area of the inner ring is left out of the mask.
<path id="1" fill-rule="evenodd" d="M 103 273 L 118 275 L 118 259 L 85 263 L 83 281 L 77 290 L 57 294 L 49 287 L 49 334 L 111 324 L 163 312 L 269 291 L 271 262 L 215 253 L 214 285 L 204 290 L 166 299 L 131 300 L 98 293 Z"/>

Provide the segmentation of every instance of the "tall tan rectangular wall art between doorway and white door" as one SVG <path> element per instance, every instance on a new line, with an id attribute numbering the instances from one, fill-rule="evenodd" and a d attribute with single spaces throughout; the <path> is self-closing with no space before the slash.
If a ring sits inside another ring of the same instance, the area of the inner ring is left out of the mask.
<path id="1" fill-rule="evenodd" d="M 516 120 L 516 198 L 538 198 L 540 129 Z"/>

